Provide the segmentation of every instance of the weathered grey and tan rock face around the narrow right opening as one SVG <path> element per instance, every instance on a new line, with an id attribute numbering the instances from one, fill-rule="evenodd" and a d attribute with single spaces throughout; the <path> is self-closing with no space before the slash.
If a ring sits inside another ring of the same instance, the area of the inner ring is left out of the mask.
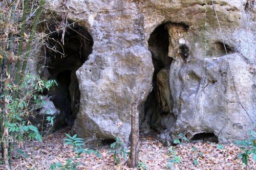
<path id="1" fill-rule="evenodd" d="M 55 17 L 61 5 L 94 43 L 76 71 L 81 96 L 73 133 L 90 144 L 115 136 L 127 143 L 137 102 L 145 104 L 142 129 L 161 131 L 163 140 L 180 132 L 212 133 L 223 143 L 244 139 L 256 119 L 256 22 L 246 2 L 213 3 L 51 2 Z"/>

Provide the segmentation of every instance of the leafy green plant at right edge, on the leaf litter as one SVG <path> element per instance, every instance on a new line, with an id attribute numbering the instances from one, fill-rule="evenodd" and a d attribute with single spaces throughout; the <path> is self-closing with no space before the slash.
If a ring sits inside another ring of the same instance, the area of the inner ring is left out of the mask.
<path id="1" fill-rule="evenodd" d="M 242 162 L 245 165 L 248 165 L 248 158 L 250 154 L 252 154 L 252 158 L 256 161 L 256 132 L 250 131 L 250 136 L 248 140 L 236 141 L 239 145 L 244 145 L 244 147 L 240 147 L 244 152 L 240 152 L 238 158 L 242 158 Z"/>

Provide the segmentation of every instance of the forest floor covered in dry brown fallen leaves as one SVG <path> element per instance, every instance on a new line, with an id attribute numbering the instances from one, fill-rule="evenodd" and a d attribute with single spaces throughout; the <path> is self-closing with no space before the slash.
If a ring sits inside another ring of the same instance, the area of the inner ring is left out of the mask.
<path id="1" fill-rule="evenodd" d="M 63 138 L 67 138 L 65 133 L 69 133 L 70 128 L 58 130 L 54 134 L 44 137 L 43 142 L 30 141 L 23 143 L 19 152 L 13 153 L 12 169 L 50 169 L 54 162 L 65 164 L 76 154 L 70 145 L 64 144 Z M 180 157 L 180 163 L 176 163 L 170 169 L 249 169 L 255 170 L 256 163 L 252 158 L 245 166 L 241 159 L 238 159 L 241 150 L 233 144 L 218 145 L 210 142 L 184 143 L 175 146 L 177 156 L 168 151 L 157 140 L 155 133 L 140 135 L 139 160 L 140 165 L 146 169 L 168 169 L 167 164 L 172 166 L 168 160 Z M 81 162 L 77 169 L 132 169 L 126 165 L 115 165 L 110 149 L 98 149 L 101 158 L 95 154 L 82 154 L 76 161 Z M 24 152 L 24 153 L 22 153 Z M 194 161 L 197 161 L 195 165 Z M 4 169 L 0 165 L 0 169 Z M 143 168 L 140 168 L 143 169 Z"/>

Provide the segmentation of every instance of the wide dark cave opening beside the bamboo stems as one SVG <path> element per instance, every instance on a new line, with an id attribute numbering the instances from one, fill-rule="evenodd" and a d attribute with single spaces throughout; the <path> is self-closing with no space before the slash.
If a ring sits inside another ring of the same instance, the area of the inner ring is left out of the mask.
<path id="1" fill-rule="evenodd" d="M 62 42 L 62 30 L 56 25 L 49 27 L 50 37 L 46 49 L 48 79 L 57 81 L 58 86 L 47 91 L 54 106 L 60 111 L 56 117 L 57 126 L 73 126 L 80 106 L 80 91 L 76 70 L 92 53 L 93 39 L 82 27 L 72 24 L 66 28 Z"/>

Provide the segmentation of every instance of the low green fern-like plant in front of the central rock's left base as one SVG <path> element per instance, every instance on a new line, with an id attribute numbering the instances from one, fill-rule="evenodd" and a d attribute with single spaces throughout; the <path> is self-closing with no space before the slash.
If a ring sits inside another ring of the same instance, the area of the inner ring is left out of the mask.
<path id="1" fill-rule="evenodd" d="M 66 142 L 64 144 L 71 144 L 74 148 L 75 153 L 77 154 L 77 156 L 75 156 L 74 158 L 70 158 L 66 161 L 66 164 L 62 164 L 60 162 L 55 162 L 53 164 L 50 165 L 50 169 L 72 169 L 75 170 L 76 167 L 80 164 L 82 164 L 81 162 L 78 162 L 77 159 L 81 158 L 81 154 L 85 153 L 85 154 L 91 154 L 94 153 L 96 154 L 98 157 L 101 158 L 101 155 L 99 154 L 98 151 L 95 150 L 89 150 L 89 149 L 84 149 L 82 148 L 83 145 L 83 139 L 82 138 L 78 138 L 77 134 L 75 134 L 74 136 L 70 136 L 69 134 L 65 134 L 68 138 L 63 139 Z"/>

